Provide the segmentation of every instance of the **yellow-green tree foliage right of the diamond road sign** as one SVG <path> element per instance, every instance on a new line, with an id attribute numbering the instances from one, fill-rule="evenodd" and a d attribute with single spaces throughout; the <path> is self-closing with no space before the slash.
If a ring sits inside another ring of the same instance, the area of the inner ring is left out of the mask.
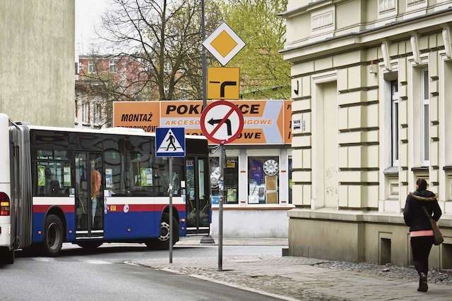
<path id="1" fill-rule="evenodd" d="M 290 63 L 278 52 L 285 43 L 285 20 L 276 16 L 287 0 L 221 2 L 225 22 L 246 43 L 227 64 L 240 68 L 243 98 L 290 98 Z"/>

